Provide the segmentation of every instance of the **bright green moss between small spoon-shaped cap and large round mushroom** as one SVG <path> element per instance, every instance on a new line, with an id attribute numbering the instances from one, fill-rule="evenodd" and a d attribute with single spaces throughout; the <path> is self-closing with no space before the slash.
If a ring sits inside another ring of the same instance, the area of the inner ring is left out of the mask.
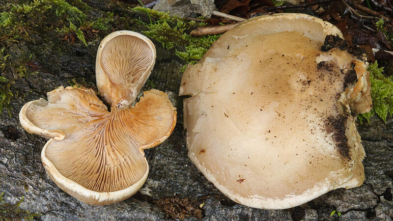
<path id="1" fill-rule="evenodd" d="M 197 63 L 213 42 L 221 36 L 216 34 L 193 37 L 190 35 L 191 30 L 198 26 L 205 26 L 205 23 L 185 21 L 169 16 L 168 13 L 144 7 L 136 7 L 134 10 L 149 15 L 150 24 L 141 22 L 148 29 L 143 31 L 143 34 L 161 42 L 164 48 L 175 48 L 176 55 L 189 64 Z"/>

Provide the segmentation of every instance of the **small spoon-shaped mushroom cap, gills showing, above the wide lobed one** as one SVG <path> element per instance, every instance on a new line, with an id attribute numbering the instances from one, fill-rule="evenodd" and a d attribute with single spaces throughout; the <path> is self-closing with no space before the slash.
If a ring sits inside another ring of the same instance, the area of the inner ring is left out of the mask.
<path id="1" fill-rule="evenodd" d="M 97 51 L 98 91 L 112 106 L 130 105 L 149 77 L 155 62 L 155 48 L 145 36 L 116 31 L 105 37 Z"/>

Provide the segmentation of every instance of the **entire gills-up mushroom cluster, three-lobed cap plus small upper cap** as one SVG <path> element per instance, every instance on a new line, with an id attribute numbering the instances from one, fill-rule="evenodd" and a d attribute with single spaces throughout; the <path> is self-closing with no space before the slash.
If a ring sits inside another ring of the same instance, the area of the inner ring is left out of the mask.
<path id="1" fill-rule="evenodd" d="M 112 105 L 108 111 L 92 89 L 60 86 L 23 106 L 19 119 L 31 134 L 50 138 L 41 152 L 49 176 L 65 192 L 92 205 L 128 198 L 145 182 L 149 166 L 143 150 L 172 133 L 176 111 L 168 95 L 145 91 L 155 48 L 133 31 L 116 31 L 97 53 L 97 85 Z"/>

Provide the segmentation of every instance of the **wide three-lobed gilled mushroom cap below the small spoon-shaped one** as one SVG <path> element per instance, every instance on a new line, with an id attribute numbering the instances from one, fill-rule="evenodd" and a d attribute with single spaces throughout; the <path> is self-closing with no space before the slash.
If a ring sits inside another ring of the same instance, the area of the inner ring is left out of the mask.
<path id="1" fill-rule="evenodd" d="M 176 111 L 162 91 L 145 91 L 135 105 L 108 112 L 94 91 L 58 87 L 25 104 L 22 126 L 51 138 L 41 152 L 50 177 L 65 192 L 93 205 L 136 193 L 149 167 L 143 150 L 169 137 Z"/>

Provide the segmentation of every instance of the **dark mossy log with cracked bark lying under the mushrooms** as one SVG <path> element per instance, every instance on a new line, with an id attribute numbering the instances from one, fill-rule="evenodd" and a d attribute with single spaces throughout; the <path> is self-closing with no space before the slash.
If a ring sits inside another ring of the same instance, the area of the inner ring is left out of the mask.
<path id="1" fill-rule="evenodd" d="M 152 39 L 157 60 L 142 90 L 154 87 L 167 92 L 178 109 L 178 124 L 167 141 L 146 151 L 150 173 L 139 193 L 109 206 L 78 201 L 61 191 L 45 172 L 40 153 L 46 140 L 23 130 L 19 110 L 60 85 L 77 83 L 96 90 L 95 56 L 102 38 L 121 29 L 152 31 L 148 26 L 160 19 L 153 16 L 151 21 L 146 12 L 120 1 L 14 2 L 0 2 L 0 193 L 4 192 L 5 201 L 0 202 L 0 220 L 10 218 L 6 216 L 12 211 L 5 208 L 29 211 L 20 213 L 19 219 L 31 219 L 34 213 L 40 215 L 35 219 L 42 220 L 325 220 L 331 219 L 334 210 L 341 213 L 342 220 L 393 217 L 393 120 L 389 117 L 386 124 L 373 117 L 369 124 L 359 126 L 366 151 L 363 186 L 332 191 L 293 209 L 269 211 L 236 204 L 198 172 L 187 157 L 182 98 L 177 92 L 182 67 L 200 58 L 217 36 L 193 40 L 174 36 L 185 42 L 170 47 L 164 44 L 165 39 Z M 165 19 L 173 22 L 176 18 Z M 197 26 L 176 25 L 186 35 L 191 26 Z M 15 203 L 20 207 L 8 206 Z M 337 213 L 332 218 L 338 219 Z"/>

